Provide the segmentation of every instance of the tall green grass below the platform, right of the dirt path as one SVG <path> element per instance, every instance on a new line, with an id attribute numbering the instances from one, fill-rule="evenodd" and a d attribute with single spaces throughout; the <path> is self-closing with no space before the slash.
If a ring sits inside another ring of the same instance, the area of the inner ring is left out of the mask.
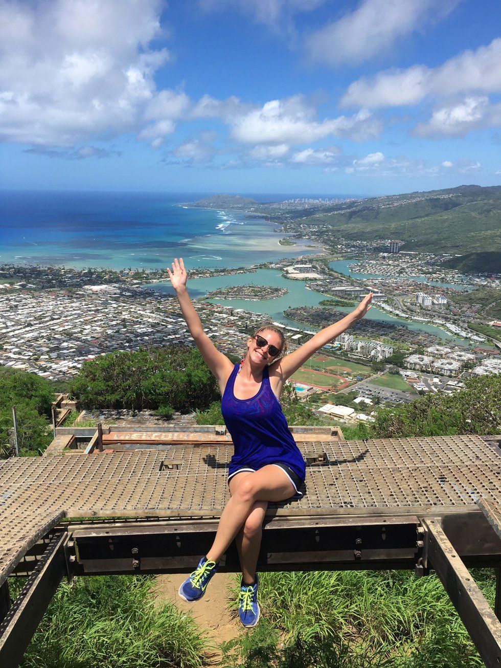
<path id="1" fill-rule="evenodd" d="M 492 605 L 492 570 L 474 573 Z M 234 610 L 235 591 L 230 599 Z M 407 571 L 263 573 L 257 629 L 224 646 L 222 666 L 479 668 L 440 580 Z M 240 663 L 237 663 L 239 661 Z"/>

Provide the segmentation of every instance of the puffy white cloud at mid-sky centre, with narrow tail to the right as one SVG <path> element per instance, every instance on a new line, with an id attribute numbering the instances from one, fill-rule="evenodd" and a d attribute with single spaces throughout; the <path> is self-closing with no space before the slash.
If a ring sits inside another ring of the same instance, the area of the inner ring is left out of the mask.
<path id="1" fill-rule="evenodd" d="M 228 122 L 232 138 L 242 144 L 306 144 L 329 135 L 366 140 L 381 133 L 381 122 L 365 110 L 318 121 L 315 108 L 301 95 L 271 100 Z"/>

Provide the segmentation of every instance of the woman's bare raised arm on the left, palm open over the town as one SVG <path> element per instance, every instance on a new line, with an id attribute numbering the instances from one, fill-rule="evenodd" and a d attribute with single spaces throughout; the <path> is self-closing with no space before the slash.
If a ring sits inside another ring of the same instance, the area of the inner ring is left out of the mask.
<path id="1" fill-rule="evenodd" d="M 179 260 L 177 258 L 174 260 L 172 271 L 167 267 L 167 273 L 172 287 L 176 291 L 182 315 L 186 320 L 186 325 L 188 325 L 196 347 L 202 353 L 202 357 L 210 371 L 216 376 L 220 387 L 224 386 L 228 375 L 230 375 L 233 369 L 233 365 L 226 355 L 218 351 L 214 343 L 212 343 L 204 332 L 198 313 L 196 313 L 190 295 L 188 295 L 188 291 L 186 290 L 188 274 L 186 273 L 186 269 L 184 269 L 182 257 Z"/>

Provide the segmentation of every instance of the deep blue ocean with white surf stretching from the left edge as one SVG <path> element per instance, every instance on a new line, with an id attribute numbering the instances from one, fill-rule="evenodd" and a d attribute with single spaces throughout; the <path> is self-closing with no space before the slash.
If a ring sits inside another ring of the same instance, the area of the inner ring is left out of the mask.
<path id="1" fill-rule="evenodd" d="M 182 257 L 188 269 L 232 268 L 311 252 L 301 242 L 280 246 L 283 235 L 264 218 L 178 205 L 202 196 L 0 192 L 0 265 L 158 269 Z"/>

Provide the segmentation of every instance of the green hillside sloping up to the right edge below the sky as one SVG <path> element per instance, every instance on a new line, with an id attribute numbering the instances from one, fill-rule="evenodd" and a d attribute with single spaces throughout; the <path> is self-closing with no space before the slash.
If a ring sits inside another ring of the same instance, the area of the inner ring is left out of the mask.
<path id="1" fill-rule="evenodd" d="M 397 238 L 406 251 L 501 251 L 501 186 L 459 186 L 347 202 L 301 220 L 348 239 Z"/>

